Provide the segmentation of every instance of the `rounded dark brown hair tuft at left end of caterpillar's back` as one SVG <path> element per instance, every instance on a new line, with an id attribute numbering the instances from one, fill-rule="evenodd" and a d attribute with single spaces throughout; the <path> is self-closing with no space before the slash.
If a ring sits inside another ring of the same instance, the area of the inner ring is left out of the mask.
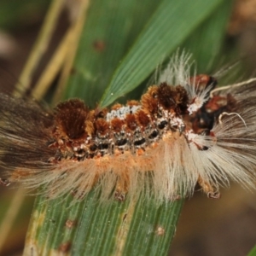
<path id="1" fill-rule="evenodd" d="M 56 126 L 71 139 L 79 139 L 85 133 L 85 121 L 90 111 L 79 99 L 62 102 L 55 108 Z"/>

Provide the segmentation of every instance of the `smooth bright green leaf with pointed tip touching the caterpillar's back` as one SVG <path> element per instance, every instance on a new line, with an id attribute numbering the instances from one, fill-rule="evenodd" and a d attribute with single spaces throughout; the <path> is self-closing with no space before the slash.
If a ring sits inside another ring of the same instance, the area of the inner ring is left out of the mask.
<path id="1" fill-rule="evenodd" d="M 113 74 L 100 103 L 102 108 L 142 83 L 221 3 L 164 0 Z"/>

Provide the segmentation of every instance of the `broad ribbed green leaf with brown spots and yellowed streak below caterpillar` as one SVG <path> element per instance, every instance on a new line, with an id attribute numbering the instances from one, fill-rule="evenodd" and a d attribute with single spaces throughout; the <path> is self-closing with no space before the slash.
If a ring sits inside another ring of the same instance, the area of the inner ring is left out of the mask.
<path id="1" fill-rule="evenodd" d="M 101 204 L 93 193 L 74 204 L 73 197 L 38 198 L 25 253 L 57 254 L 70 247 L 72 255 L 166 255 L 182 205 L 154 199 Z"/>

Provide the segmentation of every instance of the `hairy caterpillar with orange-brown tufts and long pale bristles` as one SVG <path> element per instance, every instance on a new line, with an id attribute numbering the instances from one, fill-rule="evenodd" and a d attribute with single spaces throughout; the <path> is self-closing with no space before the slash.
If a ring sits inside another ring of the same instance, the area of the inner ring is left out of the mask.
<path id="1" fill-rule="evenodd" d="M 189 70 L 189 55 L 176 55 L 139 102 L 111 109 L 72 99 L 50 111 L 0 94 L 1 183 L 47 185 L 50 198 L 94 188 L 102 201 L 170 201 L 197 183 L 219 198 L 230 179 L 253 188 L 256 84 L 215 89 Z"/>

